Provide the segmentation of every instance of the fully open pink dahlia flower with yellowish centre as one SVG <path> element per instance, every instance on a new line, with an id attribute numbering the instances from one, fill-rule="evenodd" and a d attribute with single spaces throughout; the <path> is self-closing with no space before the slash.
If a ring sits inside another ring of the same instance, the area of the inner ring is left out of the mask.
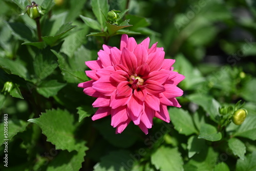
<path id="1" fill-rule="evenodd" d="M 92 80 L 78 84 L 83 92 L 97 97 L 92 104 L 99 108 L 92 117 L 97 120 L 111 115 L 111 125 L 121 133 L 133 121 L 147 134 L 157 117 L 169 122 L 167 105 L 181 105 L 175 97 L 183 91 L 177 84 L 184 76 L 174 72 L 174 59 L 164 59 L 163 48 L 150 45 L 150 38 L 137 44 L 123 34 L 120 49 L 103 45 L 98 60 L 86 61 Z"/>

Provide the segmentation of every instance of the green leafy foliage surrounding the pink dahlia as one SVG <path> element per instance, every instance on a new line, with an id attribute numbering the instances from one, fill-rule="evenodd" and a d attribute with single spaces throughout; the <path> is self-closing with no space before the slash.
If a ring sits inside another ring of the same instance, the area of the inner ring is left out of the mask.
<path id="1" fill-rule="evenodd" d="M 255 1 L 36 3 L 46 13 L 41 42 L 35 20 L 19 16 L 31 2 L 0 1 L 1 170 L 256 170 Z M 113 9 L 116 24 L 106 19 Z M 182 108 L 169 108 L 170 123 L 154 119 L 148 135 L 132 123 L 116 135 L 110 117 L 92 121 L 95 98 L 77 88 L 89 80 L 84 61 L 103 44 L 119 47 L 121 34 L 158 41 L 186 76 Z M 235 125 L 239 100 L 248 115 Z"/>

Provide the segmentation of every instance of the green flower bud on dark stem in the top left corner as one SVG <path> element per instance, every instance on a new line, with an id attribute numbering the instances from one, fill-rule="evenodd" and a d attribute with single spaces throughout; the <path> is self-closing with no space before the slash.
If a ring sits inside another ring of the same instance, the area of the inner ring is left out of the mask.
<path id="1" fill-rule="evenodd" d="M 39 5 L 37 5 L 35 2 L 32 2 L 31 5 L 27 6 L 25 11 L 20 15 L 24 15 L 25 13 L 27 13 L 29 17 L 33 19 L 36 19 L 41 15 L 45 14 L 42 8 Z"/>

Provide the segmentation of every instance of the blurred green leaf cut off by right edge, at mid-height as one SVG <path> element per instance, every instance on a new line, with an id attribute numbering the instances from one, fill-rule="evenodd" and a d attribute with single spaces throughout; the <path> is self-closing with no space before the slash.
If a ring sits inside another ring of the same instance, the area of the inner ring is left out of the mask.
<path id="1" fill-rule="evenodd" d="M 248 100 L 248 101 L 253 101 L 256 102 L 256 92 L 254 91 L 256 84 L 256 79 L 253 78 L 250 81 L 246 82 L 244 87 L 241 90 L 241 96 Z"/>

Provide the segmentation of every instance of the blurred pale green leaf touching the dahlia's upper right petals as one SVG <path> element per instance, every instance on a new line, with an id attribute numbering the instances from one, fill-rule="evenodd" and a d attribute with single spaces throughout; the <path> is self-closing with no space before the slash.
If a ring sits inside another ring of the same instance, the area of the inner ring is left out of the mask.
<path id="1" fill-rule="evenodd" d="M 178 54 L 175 59 L 176 61 L 173 65 L 175 71 L 178 71 L 180 74 L 186 76 L 186 78 L 181 81 L 179 85 L 184 87 L 186 90 L 198 90 L 200 84 L 202 84 L 205 80 L 200 71 L 193 67 L 182 54 Z"/>

